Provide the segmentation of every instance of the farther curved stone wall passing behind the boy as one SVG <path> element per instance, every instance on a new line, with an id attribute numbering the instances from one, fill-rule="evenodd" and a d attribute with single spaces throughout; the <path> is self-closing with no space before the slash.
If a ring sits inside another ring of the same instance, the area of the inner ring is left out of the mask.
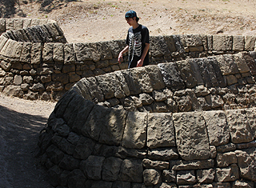
<path id="1" fill-rule="evenodd" d="M 118 64 L 124 40 L 67 43 L 54 21 L 0 19 L 0 91 L 58 101 L 81 78 L 127 68 Z M 254 36 L 170 35 L 150 38 L 150 64 L 252 51 Z"/>

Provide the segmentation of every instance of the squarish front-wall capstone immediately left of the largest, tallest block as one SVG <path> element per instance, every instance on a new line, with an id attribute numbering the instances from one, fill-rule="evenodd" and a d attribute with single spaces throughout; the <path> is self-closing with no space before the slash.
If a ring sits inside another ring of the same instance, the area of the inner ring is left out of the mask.
<path id="1" fill-rule="evenodd" d="M 150 149 L 157 147 L 175 146 L 174 124 L 171 114 L 149 114 L 146 146 Z"/>

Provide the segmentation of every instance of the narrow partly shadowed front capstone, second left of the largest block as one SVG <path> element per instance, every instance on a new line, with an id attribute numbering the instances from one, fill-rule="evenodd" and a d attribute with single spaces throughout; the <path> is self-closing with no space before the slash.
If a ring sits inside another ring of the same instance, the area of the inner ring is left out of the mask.
<path id="1" fill-rule="evenodd" d="M 147 113 L 129 112 L 122 138 L 122 146 L 141 149 L 146 146 Z"/>

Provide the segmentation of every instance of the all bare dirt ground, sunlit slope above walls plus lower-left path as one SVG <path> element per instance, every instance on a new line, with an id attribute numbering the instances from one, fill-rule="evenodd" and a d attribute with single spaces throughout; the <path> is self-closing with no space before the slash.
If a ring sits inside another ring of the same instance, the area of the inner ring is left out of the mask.
<path id="1" fill-rule="evenodd" d="M 47 0 L 45 0 L 47 1 Z M 50 1 L 50 0 L 49 0 Z M 49 2 L 48 1 L 48 2 Z M 124 14 L 135 10 L 150 35 L 256 34 L 254 0 L 89 1 L 51 0 L 42 11 L 36 1 L 19 1 L 26 18 L 58 21 L 68 42 L 98 42 L 126 38 Z M 1 3 L 1 2 L 0 2 Z M 58 7 L 58 8 L 56 8 Z M 14 14 L 13 18 L 22 18 Z M 0 187 L 51 187 L 38 164 L 38 133 L 56 103 L 26 101 L 0 94 Z"/>

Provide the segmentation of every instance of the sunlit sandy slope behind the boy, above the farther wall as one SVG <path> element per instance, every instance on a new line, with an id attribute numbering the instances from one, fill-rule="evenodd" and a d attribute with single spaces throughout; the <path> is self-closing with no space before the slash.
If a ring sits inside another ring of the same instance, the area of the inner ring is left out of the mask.
<path id="1" fill-rule="evenodd" d="M 137 12 L 139 23 L 149 28 L 150 35 L 255 35 L 255 8 L 254 0 L 82 0 L 58 4 L 58 9 L 50 13 L 38 11 L 35 3 L 21 6 L 27 18 L 47 17 L 58 21 L 68 42 L 126 38 L 127 10 Z"/>

